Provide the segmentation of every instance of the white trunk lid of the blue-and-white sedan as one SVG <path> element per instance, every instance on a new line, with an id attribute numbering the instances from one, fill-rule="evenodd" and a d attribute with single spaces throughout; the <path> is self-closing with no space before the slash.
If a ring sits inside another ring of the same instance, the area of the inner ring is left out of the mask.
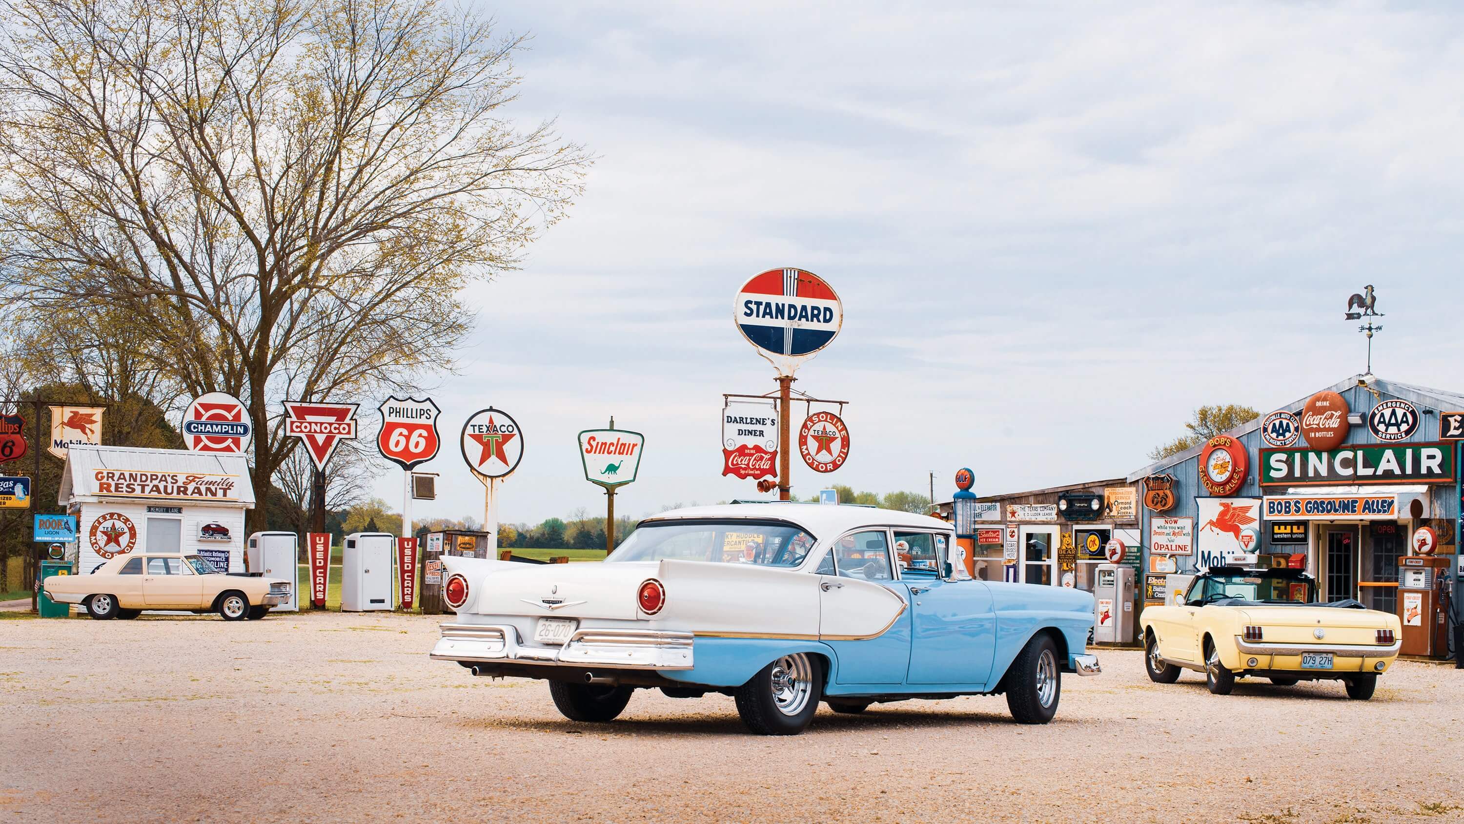
<path id="1" fill-rule="evenodd" d="M 498 565 L 483 577 L 473 604 L 477 615 L 534 618 L 637 618 L 635 593 L 659 563 Z"/>

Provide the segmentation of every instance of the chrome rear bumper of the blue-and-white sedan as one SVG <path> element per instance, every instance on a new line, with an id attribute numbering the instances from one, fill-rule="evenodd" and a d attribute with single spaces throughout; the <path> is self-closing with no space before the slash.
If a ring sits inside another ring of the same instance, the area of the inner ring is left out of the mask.
<path id="1" fill-rule="evenodd" d="M 578 629 L 562 647 L 526 645 L 514 626 L 444 623 L 432 647 L 439 662 L 514 662 L 518 664 L 587 666 L 606 669 L 691 669 L 691 632 L 651 629 Z"/>

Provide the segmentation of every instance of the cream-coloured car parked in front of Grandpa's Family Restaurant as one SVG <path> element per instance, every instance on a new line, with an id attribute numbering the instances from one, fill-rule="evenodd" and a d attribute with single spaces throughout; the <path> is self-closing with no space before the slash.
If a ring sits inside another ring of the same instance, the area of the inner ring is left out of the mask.
<path id="1" fill-rule="evenodd" d="M 224 621 L 264 618 L 290 600 L 280 578 L 218 572 L 198 555 L 119 555 L 91 575 L 51 575 L 45 597 L 76 603 L 98 621 L 138 618 L 145 609 L 217 612 Z"/>

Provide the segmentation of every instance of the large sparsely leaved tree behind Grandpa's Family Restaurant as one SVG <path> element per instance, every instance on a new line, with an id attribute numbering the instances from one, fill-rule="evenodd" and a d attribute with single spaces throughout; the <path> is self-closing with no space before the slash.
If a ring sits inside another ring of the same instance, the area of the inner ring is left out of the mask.
<path id="1" fill-rule="evenodd" d="M 590 161 L 507 119 L 523 38 L 433 0 L 0 9 L 0 288 L 107 304 L 180 391 L 237 394 L 256 490 L 293 446 L 271 401 L 449 367 L 461 288 Z"/>

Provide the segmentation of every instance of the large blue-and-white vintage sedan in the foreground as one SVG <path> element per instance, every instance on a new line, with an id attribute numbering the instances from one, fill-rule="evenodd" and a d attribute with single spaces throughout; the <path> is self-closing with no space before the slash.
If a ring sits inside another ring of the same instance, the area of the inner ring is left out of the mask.
<path id="1" fill-rule="evenodd" d="M 444 556 L 457 621 L 432 657 L 546 679 L 578 722 L 659 688 L 732 695 L 763 735 L 802 732 L 818 701 L 998 692 L 1017 722 L 1047 723 L 1061 673 L 1098 672 L 1092 596 L 971 580 L 953 542 L 925 515 L 750 503 L 647 518 L 603 563 Z"/>

